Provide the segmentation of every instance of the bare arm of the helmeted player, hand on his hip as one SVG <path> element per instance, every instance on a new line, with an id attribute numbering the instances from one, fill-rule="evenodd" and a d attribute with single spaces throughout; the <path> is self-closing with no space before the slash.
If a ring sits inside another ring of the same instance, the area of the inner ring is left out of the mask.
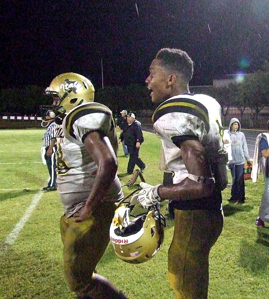
<path id="1" fill-rule="evenodd" d="M 97 131 L 89 133 L 84 141 L 85 149 L 91 155 L 98 169 L 91 193 L 86 204 L 78 213 L 75 221 L 84 221 L 92 214 L 95 206 L 103 199 L 110 184 L 115 179 L 118 162 L 114 150 L 107 137 L 101 136 Z"/>

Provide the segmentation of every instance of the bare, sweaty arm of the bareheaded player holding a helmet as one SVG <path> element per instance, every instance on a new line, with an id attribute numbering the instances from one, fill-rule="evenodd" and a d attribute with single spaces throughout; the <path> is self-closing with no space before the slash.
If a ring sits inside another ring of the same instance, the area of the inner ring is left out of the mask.
<path id="1" fill-rule="evenodd" d="M 180 144 L 183 162 L 188 173 L 206 178 L 212 177 L 208 162 L 205 158 L 205 149 L 197 140 L 186 140 Z M 178 184 L 158 188 L 161 200 L 190 200 L 210 196 L 214 187 L 213 180 L 197 182 L 189 178 Z"/>

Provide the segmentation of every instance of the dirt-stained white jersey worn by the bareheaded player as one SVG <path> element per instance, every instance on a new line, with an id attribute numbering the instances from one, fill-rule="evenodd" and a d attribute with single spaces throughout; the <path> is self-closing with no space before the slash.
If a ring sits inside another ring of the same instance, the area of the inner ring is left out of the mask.
<path id="1" fill-rule="evenodd" d="M 207 95 L 171 97 L 156 109 L 152 121 L 156 135 L 162 141 L 165 164 L 174 173 L 174 184 L 188 176 L 175 141 L 185 140 L 184 135 L 198 138 L 209 155 L 222 148 L 221 108 L 215 99 Z"/>

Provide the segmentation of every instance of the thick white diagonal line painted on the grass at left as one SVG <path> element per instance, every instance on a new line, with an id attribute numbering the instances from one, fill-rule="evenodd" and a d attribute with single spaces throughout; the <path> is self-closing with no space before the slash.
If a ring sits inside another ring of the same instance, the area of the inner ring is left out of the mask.
<path id="1" fill-rule="evenodd" d="M 30 206 L 27 208 L 26 212 L 21 217 L 19 222 L 15 225 L 13 231 L 7 236 L 6 241 L 5 241 L 6 244 L 12 245 L 15 242 L 16 238 L 18 237 L 19 232 L 24 227 L 24 224 L 27 222 L 28 218 L 32 214 L 35 206 L 38 204 L 38 202 L 41 199 L 43 193 L 44 193 L 43 191 L 39 191 L 33 197 L 33 200 L 31 202 Z"/>

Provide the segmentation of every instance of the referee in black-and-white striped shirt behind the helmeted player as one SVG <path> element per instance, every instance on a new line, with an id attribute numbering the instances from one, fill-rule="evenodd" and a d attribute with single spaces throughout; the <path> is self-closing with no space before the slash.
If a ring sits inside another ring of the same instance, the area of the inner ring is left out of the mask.
<path id="1" fill-rule="evenodd" d="M 50 174 L 50 181 L 47 187 L 44 187 L 44 191 L 57 190 L 56 184 L 56 138 L 55 138 L 55 122 L 50 119 L 50 116 L 46 116 L 48 120 L 47 130 L 43 137 L 43 146 L 45 147 L 45 160 Z"/>

